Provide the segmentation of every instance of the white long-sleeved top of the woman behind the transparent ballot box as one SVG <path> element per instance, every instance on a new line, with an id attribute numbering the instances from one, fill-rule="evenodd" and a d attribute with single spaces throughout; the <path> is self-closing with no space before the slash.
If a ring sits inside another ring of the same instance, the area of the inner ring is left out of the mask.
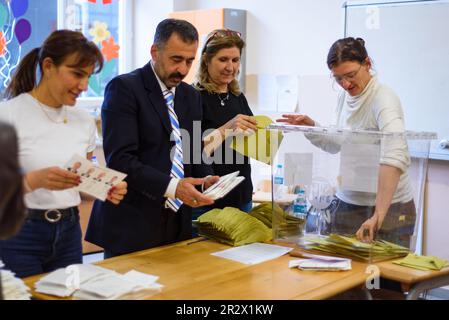
<path id="1" fill-rule="evenodd" d="M 319 125 L 319 124 L 316 124 Z M 404 114 L 398 96 L 389 87 L 373 77 L 364 91 L 357 97 L 346 92 L 340 95 L 337 106 L 337 127 L 352 130 L 366 129 L 383 132 L 404 132 Z M 318 135 L 306 135 L 319 148 L 337 153 L 340 151 L 339 139 L 329 139 Z M 404 203 L 413 199 L 413 189 L 408 175 L 410 156 L 406 141 L 391 140 L 382 150 L 380 163 L 399 168 L 403 173 L 399 179 L 392 203 Z M 373 193 L 337 190 L 341 200 L 360 206 L 374 206 Z"/>

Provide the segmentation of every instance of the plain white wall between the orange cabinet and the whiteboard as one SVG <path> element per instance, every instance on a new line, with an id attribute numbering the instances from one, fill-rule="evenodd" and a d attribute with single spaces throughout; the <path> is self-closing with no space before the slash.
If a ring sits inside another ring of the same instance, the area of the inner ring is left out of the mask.
<path id="1" fill-rule="evenodd" d="M 343 0 L 174 0 L 176 11 L 247 10 L 247 74 L 324 74 Z"/>

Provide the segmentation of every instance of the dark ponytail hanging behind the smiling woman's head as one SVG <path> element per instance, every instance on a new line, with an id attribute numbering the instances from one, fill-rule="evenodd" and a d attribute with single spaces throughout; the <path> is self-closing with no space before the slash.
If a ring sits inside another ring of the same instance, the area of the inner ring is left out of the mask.
<path id="1" fill-rule="evenodd" d="M 33 90 L 36 85 L 36 68 L 39 62 L 40 48 L 31 50 L 19 63 L 11 83 L 5 89 L 4 97 L 12 99 L 18 95 Z"/>

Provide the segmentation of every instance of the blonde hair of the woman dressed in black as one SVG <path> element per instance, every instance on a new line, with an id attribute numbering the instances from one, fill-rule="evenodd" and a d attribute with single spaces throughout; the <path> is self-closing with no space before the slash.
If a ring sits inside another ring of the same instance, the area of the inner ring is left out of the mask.
<path id="1" fill-rule="evenodd" d="M 217 29 L 209 33 L 206 42 L 202 49 L 200 67 L 197 73 L 197 83 L 195 87 L 199 90 L 206 90 L 209 93 L 218 92 L 217 85 L 212 82 L 207 65 L 217 55 L 221 49 L 237 47 L 240 50 L 240 55 L 245 47 L 245 42 L 236 31 L 228 29 Z M 229 91 L 238 96 L 241 94 L 239 82 L 237 79 L 228 84 Z"/>

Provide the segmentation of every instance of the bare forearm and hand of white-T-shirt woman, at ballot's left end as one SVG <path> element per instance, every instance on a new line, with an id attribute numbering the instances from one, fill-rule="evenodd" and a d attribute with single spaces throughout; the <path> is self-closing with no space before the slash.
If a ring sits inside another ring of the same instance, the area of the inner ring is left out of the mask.
<path id="1" fill-rule="evenodd" d="M 74 188 L 81 183 L 79 175 L 59 167 L 31 171 L 26 174 L 25 179 L 31 190 L 39 188 L 65 190 Z"/>

